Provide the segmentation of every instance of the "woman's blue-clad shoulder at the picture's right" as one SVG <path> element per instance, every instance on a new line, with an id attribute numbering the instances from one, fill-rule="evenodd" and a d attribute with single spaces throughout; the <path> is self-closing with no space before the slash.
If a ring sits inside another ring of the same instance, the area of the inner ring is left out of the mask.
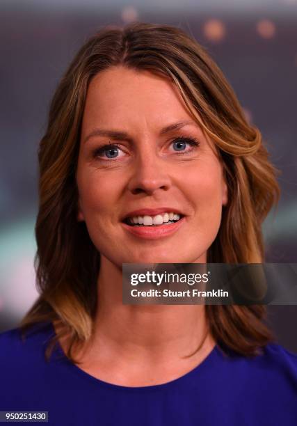
<path id="1" fill-rule="evenodd" d="M 238 418 L 230 424 L 296 425 L 296 354 L 274 343 L 257 356 L 217 354 L 211 365 L 212 395 L 221 407 L 232 407 Z"/>

